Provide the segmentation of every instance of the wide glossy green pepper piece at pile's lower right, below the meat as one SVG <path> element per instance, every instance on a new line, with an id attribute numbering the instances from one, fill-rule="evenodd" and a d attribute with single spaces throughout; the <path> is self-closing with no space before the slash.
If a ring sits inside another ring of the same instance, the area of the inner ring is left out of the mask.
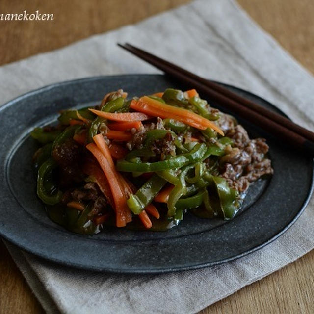
<path id="1" fill-rule="evenodd" d="M 215 176 L 213 176 L 212 179 L 217 189 L 224 219 L 233 218 L 240 207 L 237 200 L 238 192 L 231 189 L 225 179 Z"/>

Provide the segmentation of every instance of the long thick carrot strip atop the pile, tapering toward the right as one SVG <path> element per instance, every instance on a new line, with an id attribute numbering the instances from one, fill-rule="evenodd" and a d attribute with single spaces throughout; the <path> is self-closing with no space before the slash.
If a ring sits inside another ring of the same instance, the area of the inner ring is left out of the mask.
<path id="1" fill-rule="evenodd" d="M 148 96 L 143 96 L 138 101 L 133 99 L 130 108 L 155 117 L 172 118 L 200 130 L 211 128 L 219 134 L 224 135 L 223 131 L 212 121 L 187 109 L 163 104 Z"/>

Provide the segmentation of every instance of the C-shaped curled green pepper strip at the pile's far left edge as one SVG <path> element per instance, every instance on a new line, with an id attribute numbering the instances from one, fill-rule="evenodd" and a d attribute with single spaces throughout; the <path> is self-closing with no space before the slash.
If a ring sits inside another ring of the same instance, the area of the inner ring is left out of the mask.
<path id="1" fill-rule="evenodd" d="M 52 183 L 52 171 L 57 167 L 53 158 L 47 159 L 39 168 L 37 175 L 37 195 L 47 205 L 55 205 L 60 202 L 62 192 L 55 190 Z M 53 192 L 52 192 L 53 191 Z"/>

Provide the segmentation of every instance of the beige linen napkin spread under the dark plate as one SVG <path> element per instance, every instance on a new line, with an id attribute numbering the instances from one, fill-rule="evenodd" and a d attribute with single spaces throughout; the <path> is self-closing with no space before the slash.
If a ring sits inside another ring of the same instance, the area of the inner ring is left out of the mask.
<path id="1" fill-rule="evenodd" d="M 158 73 L 116 46 L 125 41 L 203 77 L 256 93 L 314 129 L 313 77 L 233 0 L 196 0 L 139 24 L 2 66 L 1 102 L 73 78 Z M 195 313 L 314 248 L 313 209 L 312 198 L 288 232 L 255 253 L 180 273 L 90 272 L 43 262 L 12 245 L 8 248 L 47 313 Z"/>

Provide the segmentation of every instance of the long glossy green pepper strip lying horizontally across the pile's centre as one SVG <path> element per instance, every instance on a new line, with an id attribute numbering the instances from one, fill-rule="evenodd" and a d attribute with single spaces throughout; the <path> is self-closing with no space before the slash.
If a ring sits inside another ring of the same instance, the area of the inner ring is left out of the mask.
<path id="1" fill-rule="evenodd" d="M 178 155 L 171 159 L 157 162 L 142 162 L 139 164 L 126 160 L 118 160 L 116 163 L 116 168 L 118 171 L 124 172 L 154 172 L 166 169 L 181 168 L 202 158 L 206 153 L 206 150 L 207 147 L 205 144 L 198 143 L 189 153 Z"/>

